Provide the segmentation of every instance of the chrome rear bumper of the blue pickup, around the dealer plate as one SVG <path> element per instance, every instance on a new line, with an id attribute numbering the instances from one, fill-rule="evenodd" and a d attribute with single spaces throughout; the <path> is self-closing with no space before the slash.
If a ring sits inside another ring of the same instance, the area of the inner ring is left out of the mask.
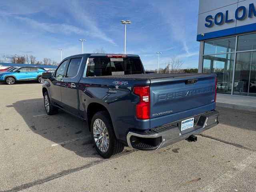
<path id="1" fill-rule="evenodd" d="M 183 131 L 179 126 L 182 120 L 153 128 L 148 132 L 130 131 L 126 136 L 128 146 L 138 150 L 157 150 L 216 126 L 219 123 L 219 115 L 218 111 L 213 110 L 195 116 L 197 118 L 194 127 Z"/>

